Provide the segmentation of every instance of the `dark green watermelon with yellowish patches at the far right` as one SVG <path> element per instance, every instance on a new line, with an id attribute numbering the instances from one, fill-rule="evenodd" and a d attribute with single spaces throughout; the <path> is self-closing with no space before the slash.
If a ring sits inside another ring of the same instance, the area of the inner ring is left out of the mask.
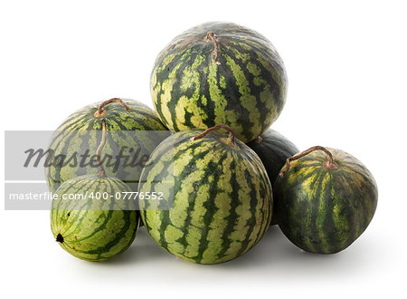
<path id="1" fill-rule="evenodd" d="M 274 184 L 279 227 L 299 248 L 334 254 L 374 217 L 377 186 L 368 169 L 339 149 L 314 147 L 290 158 Z"/>

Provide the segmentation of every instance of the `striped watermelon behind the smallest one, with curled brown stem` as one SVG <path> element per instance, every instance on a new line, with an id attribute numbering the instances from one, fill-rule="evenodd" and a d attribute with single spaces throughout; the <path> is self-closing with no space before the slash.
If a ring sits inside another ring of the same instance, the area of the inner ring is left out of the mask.
<path id="1" fill-rule="evenodd" d="M 100 107 L 101 109 L 99 109 Z M 135 149 L 135 151 L 141 149 L 140 156 L 142 153 L 148 155 L 159 142 L 168 136 L 152 132 L 153 130 L 166 130 L 166 127 L 158 120 L 154 111 L 144 104 L 133 100 L 111 99 L 101 105 L 94 103 L 86 106 L 63 121 L 52 136 L 49 148 L 54 152 L 50 158 L 66 155 L 69 159 L 76 152 L 83 153 L 86 150 L 89 150 L 90 155 L 94 154 L 101 139 L 97 133 L 102 129 L 101 119 L 106 121 L 107 130 L 121 131 L 117 134 L 109 134 L 104 147 L 104 153 L 113 157 L 117 157 L 120 149 Z M 148 130 L 148 133 L 140 137 L 140 134 L 136 135 L 132 132 L 135 130 Z M 137 138 L 142 140 L 137 140 Z M 107 175 L 120 178 L 128 183 L 137 182 L 142 169 L 142 167 L 125 167 L 122 163 L 116 171 L 112 167 L 105 168 Z M 79 164 L 62 166 L 53 163 L 50 167 L 45 168 L 48 186 L 52 192 L 55 192 L 68 179 L 97 171 L 98 169 L 94 167 L 80 167 Z"/>

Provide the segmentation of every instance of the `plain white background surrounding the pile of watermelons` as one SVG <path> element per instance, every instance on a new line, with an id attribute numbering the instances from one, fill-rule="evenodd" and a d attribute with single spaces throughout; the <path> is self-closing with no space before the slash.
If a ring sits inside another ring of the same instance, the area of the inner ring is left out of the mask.
<path id="1" fill-rule="evenodd" d="M 299 149 L 323 145 L 361 159 L 377 180 L 379 203 L 370 227 L 342 253 L 301 252 L 272 227 L 251 252 L 223 265 L 177 259 L 144 229 L 122 256 L 80 261 L 53 240 L 48 211 L 2 207 L 0 292 L 405 298 L 406 11 L 389 0 L 1 1 L 2 135 L 54 130 L 71 112 L 111 97 L 152 107 L 149 74 L 166 43 L 195 24 L 232 21 L 266 35 L 286 64 L 288 101 L 273 128 Z"/>

